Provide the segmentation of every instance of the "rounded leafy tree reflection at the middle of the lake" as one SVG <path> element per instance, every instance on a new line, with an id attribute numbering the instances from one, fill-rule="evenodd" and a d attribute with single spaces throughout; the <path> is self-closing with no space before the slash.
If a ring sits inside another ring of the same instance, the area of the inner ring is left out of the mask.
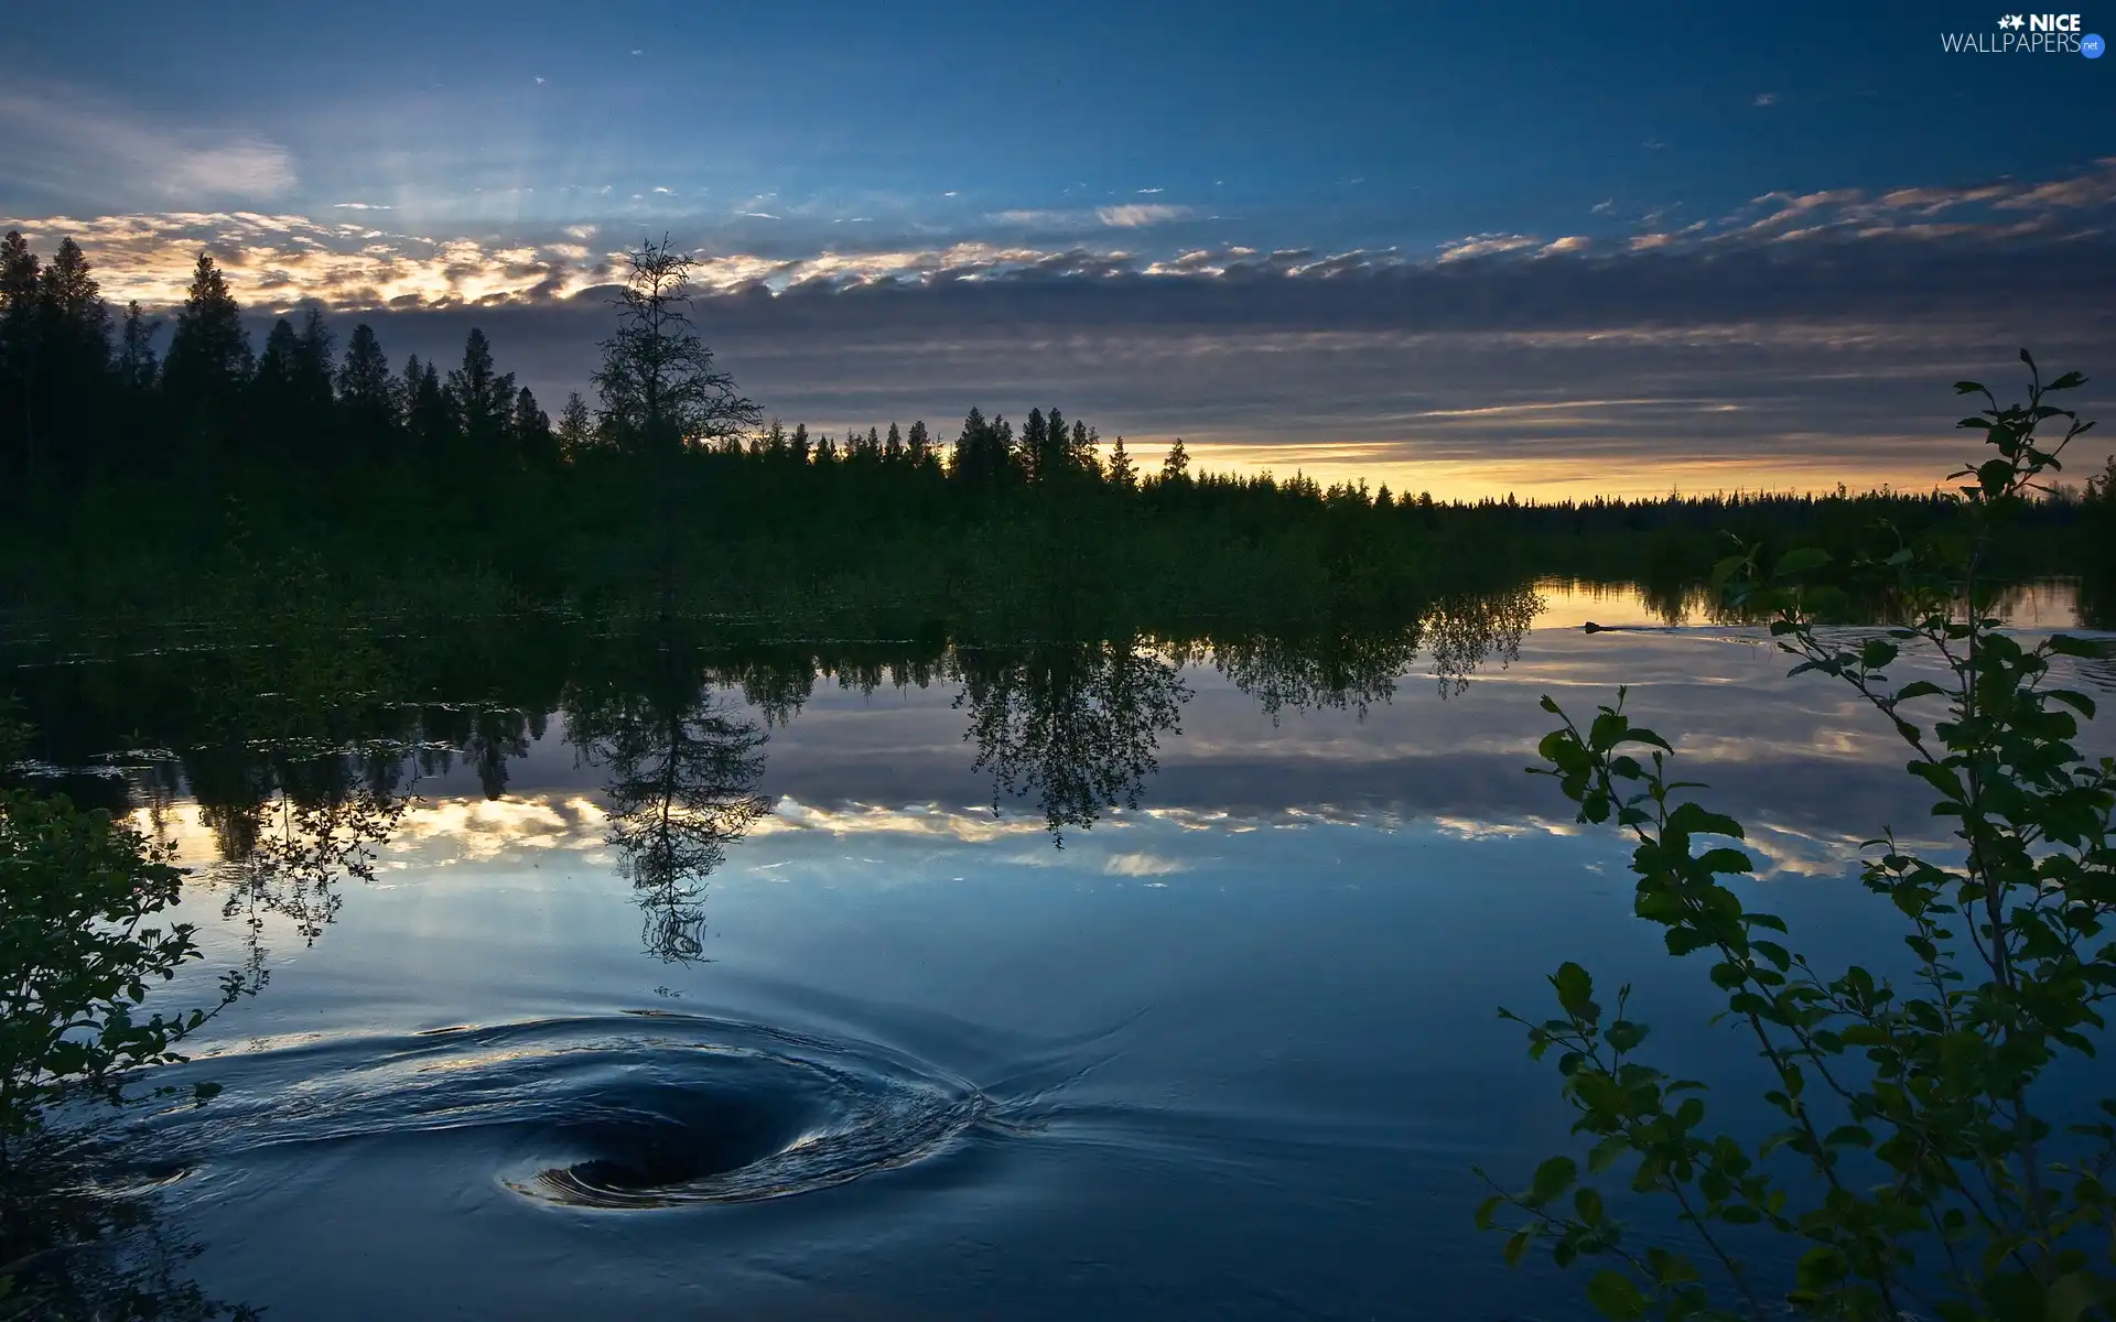
<path id="1" fill-rule="evenodd" d="M 1092 827 L 1105 808 L 1136 808 L 1164 730 L 1176 730 L 1189 685 L 1141 641 L 1035 643 L 956 656 L 969 706 L 965 740 L 1001 795 L 1035 795 L 1052 840 Z"/>

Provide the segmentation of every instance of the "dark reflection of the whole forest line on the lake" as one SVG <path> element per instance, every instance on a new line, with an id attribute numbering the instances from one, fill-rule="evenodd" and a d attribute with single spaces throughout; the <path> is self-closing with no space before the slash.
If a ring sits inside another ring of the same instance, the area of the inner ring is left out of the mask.
<path id="1" fill-rule="evenodd" d="M 93 664 L 17 668 L 40 761 L 121 768 L 76 797 L 159 821 L 199 806 L 218 863 L 201 878 L 254 937 L 284 922 L 315 941 L 343 886 L 372 867 L 419 787 L 468 772 L 487 800 L 561 713 L 603 776 L 607 840 L 664 958 L 703 950 L 705 886 L 768 810 L 766 732 L 817 685 L 956 687 L 971 764 L 995 810 L 1033 804 L 1052 840 L 1149 795 L 1162 736 L 1210 664 L 1274 717 L 1388 702 L 1424 668 L 1458 690 L 1509 660 L 1528 590 L 1460 594 L 1397 624 L 1308 635 L 1141 630 L 1098 639 L 952 645 L 783 641 L 671 620 L 595 630 L 552 616 L 478 630 L 351 630 L 322 611 L 245 618 L 229 647 L 131 647 Z M 256 952 L 262 958 L 262 950 Z"/>

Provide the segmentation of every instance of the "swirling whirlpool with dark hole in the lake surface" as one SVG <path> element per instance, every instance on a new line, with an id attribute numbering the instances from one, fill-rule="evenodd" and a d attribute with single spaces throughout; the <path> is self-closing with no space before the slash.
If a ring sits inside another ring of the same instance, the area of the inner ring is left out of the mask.
<path id="1" fill-rule="evenodd" d="M 440 1136 L 546 1204 L 789 1197 L 920 1161 L 984 1121 L 963 1079 L 884 1047 L 698 1015 L 430 1030 L 226 1055 L 229 1091 L 163 1132 L 212 1163 L 254 1149 Z M 199 1117 L 199 1119 L 193 1119 Z"/>

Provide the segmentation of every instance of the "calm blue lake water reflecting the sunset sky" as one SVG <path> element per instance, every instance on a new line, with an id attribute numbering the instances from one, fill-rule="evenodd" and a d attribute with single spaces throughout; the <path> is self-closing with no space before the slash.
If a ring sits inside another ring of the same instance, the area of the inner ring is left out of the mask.
<path id="1" fill-rule="evenodd" d="M 1519 605 L 1416 658 L 1022 647 L 798 700 L 647 649 L 548 711 L 421 694 L 307 793 L 256 730 L 229 764 L 110 717 L 199 867 L 171 998 L 271 969 L 174 1075 L 226 1091 L 129 1159 L 197 1280 L 277 1318 L 1581 1316 L 1471 1227 L 1471 1165 L 1568 1151 L 1494 1007 L 1540 1015 L 1579 958 L 1638 984 L 1661 1062 L 1752 1062 L 1631 918 L 1625 842 L 1524 774 L 1538 696 L 1629 683 L 1820 965 L 1894 945 L 1858 842 L 1938 827 L 1763 630 Z M 2063 590 L 2014 616 L 2072 624 Z M 152 671 L 11 660 L 32 715 Z"/>

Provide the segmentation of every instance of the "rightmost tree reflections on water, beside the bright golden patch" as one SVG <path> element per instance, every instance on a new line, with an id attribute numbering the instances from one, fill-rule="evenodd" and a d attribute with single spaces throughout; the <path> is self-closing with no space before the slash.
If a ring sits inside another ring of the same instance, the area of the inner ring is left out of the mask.
<path id="1" fill-rule="evenodd" d="M 1424 651 L 1441 696 L 1460 694 L 1494 656 L 1511 664 L 1543 599 L 1532 588 L 1445 596 L 1390 628 L 1251 635 L 1212 643 L 1212 664 L 1278 723 L 1284 709 L 1354 711 L 1388 702 Z"/>

